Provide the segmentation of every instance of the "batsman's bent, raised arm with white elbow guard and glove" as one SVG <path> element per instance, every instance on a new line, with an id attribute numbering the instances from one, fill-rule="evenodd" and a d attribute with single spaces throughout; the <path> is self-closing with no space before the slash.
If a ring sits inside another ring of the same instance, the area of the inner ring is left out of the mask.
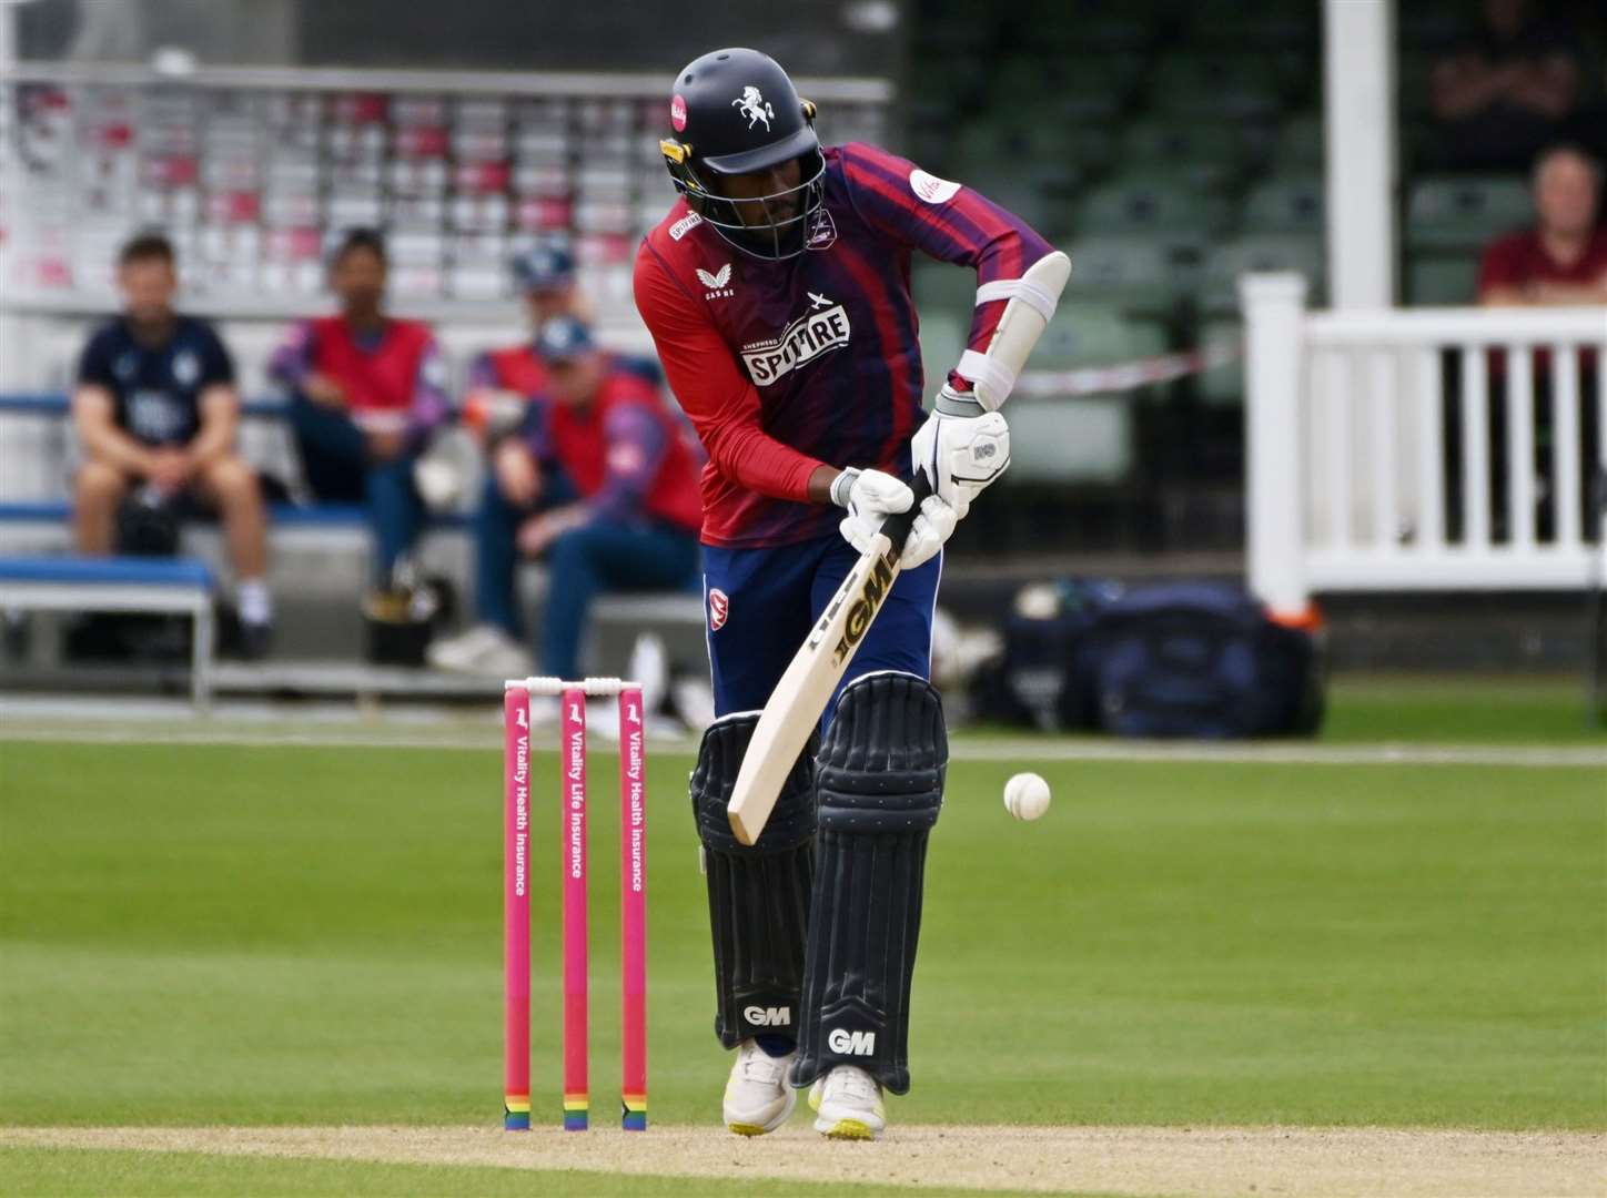
<path id="1" fill-rule="evenodd" d="M 848 145 L 842 161 L 850 201 L 869 225 L 895 244 L 977 271 L 966 350 L 911 443 L 914 469 L 927 475 L 937 499 L 922 504 L 911 530 L 905 549 L 911 567 L 937 552 L 971 501 L 1009 466 L 1009 426 L 998 408 L 1016 384 L 1019 360 L 1054 315 L 1065 257 L 1014 214 L 906 159 Z M 1011 304 L 1032 312 L 1035 332 L 1016 347 L 1019 353 L 990 353 Z"/>

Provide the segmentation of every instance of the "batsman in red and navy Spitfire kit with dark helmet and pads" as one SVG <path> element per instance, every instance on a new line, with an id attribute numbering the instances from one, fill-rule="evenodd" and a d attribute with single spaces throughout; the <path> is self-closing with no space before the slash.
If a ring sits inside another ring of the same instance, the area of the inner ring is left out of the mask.
<path id="1" fill-rule="evenodd" d="M 680 198 L 643 239 L 635 295 L 709 464 L 704 594 L 718 719 L 691 779 L 714 930 L 725 1123 L 763 1135 L 810 1087 L 815 1129 L 876 1139 L 910 1089 L 926 841 L 948 760 L 929 679 L 943 541 L 1009 464 L 988 358 L 1051 247 L 971 188 L 866 145 L 821 146 L 771 58 L 686 66 L 660 141 Z M 969 348 L 922 408 L 910 259 L 977 273 Z M 1064 262 L 1064 259 L 1061 259 Z M 1061 273 L 1064 283 L 1064 273 Z M 789 658 L 882 520 L 922 499 L 881 615 L 752 845 L 726 800 Z"/>

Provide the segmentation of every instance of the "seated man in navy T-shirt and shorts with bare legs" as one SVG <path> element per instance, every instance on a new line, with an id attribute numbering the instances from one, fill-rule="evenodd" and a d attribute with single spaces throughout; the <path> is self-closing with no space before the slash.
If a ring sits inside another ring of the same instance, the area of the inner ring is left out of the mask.
<path id="1" fill-rule="evenodd" d="M 243 650 L 268 649 L 273 605 L 257 475 L 235 451 L 239 395 L 235 363 L 204 320 L 174 312 L 174 247 L 145 233 L 122 247 L 117 286 L 124 315 L 84 347 L 72 422 L 84 448 L 74 480 L 72 540 L 79 552 L 117 544 L 119 509 L 138 490 L 146 509 L 174 520 L 186 504 L 223 519 L 235 567 Z"/>

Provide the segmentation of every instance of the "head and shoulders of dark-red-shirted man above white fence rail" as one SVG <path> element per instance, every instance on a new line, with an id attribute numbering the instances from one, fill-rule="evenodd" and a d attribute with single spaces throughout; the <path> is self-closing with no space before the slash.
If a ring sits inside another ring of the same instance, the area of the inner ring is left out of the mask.
<path id="1" fill-rule="evenodd" d="M 1607 304 L 1607 230 L 1597 226 L 1601 167 L 1578 149 L 1535 165 L 1535 228 L 1485 249 L 1478 302 Z"/>

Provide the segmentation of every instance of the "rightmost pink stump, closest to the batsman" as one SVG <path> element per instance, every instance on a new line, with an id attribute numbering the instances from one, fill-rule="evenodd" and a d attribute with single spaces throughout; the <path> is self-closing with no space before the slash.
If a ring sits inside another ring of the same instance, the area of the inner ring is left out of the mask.
<path id="1" fill-rule="evenodd" d="M 619 694 L 620 1123 L 648 1127 L 648 805 L 641 691 Z"/>

